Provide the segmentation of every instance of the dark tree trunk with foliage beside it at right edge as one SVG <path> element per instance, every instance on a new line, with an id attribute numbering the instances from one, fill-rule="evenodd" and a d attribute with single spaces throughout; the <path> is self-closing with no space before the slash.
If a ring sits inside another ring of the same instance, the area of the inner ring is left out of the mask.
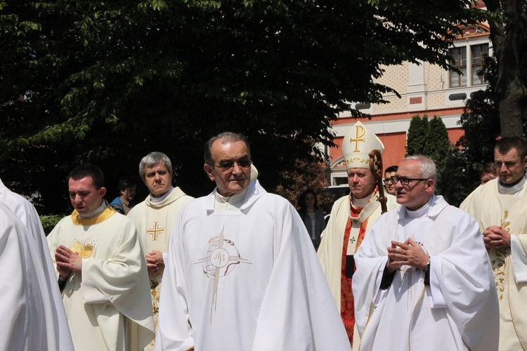
<path id="1" fill-rule="evenodd" d="M 500 136 L 526 135 L 527 51 L 525 1 L 486 0 L 493 57 L 486 58 L 479 74 L 488 81 L 485 91 L 471 93 L 460 124 L 464 135 L 449 157 L 456 172 L 445 198 L 458 205 L 479 184 L 479 170 L 493 161 Z M 445 175 L 446 176 L 446 175 Z"/>

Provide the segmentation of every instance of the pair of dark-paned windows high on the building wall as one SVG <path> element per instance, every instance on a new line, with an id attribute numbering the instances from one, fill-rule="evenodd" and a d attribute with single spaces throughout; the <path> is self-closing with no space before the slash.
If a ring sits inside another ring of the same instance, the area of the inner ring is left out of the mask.
<path id="1" fill-rule="evenodd" d="M 469 50 L 470 60 L 467 62 L 467 50 Z M 450 88 L 467 86 L 467 72 L 470 72 L 470 85 L 486 84 L 483 77 L 478 77 L 478 71 L 483 68 L 483 60 L 488 56 L 488 44 L 478 44 L 471 46 L 460 46 L 450 49 L 450 56 L 454 62 L 453 66 L 460 70 L 462 74 L 450 71 Z"/>

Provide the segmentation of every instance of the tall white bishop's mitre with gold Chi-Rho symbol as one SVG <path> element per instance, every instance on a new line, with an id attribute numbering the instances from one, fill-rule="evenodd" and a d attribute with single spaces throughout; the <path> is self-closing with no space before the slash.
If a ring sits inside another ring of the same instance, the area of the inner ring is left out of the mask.
<path id="1" fill-rule="evenodd" d="M 357 121 L 342 140 L 342 154 L 346 162 L 346 169 L 367 168 L 370 169 L 370 152 L 372 150 L 384 151 L 382 141 L 372 133 L 364 124 Z"/>

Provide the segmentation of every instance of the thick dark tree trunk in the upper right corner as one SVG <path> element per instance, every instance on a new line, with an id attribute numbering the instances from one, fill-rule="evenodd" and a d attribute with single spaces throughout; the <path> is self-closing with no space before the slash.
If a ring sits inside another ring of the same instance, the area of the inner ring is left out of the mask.
<path id="1" fill-rule="evenodd" d="M 496 18 L 489 21 L 490 40 L 497 60 L 495 102 L 500 113 L 502 136 L 523 136 L 523 110 L 527 89 L 520 77 L 521 48 L 526 28 L 526 13 L 521 0 L 486 0 L 488 11 Z"/>

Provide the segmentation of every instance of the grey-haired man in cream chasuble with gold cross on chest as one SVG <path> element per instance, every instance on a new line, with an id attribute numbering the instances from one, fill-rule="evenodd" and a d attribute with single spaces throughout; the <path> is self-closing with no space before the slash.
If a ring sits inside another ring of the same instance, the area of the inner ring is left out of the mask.
<path id="1" fill-rule="evenodd" d="M 150 194 L 134 206 L 128 218 L 137 227 L 146 254 L 155 327 L 159 316 L 161 282 L 169 239 L 181 208 L 193 200 L 172 186 L 172 163 L 162 152 L 150 152 L 139 163 L 139 175 Z M 148 345 L 151 350 L 155 340 Z"/>

